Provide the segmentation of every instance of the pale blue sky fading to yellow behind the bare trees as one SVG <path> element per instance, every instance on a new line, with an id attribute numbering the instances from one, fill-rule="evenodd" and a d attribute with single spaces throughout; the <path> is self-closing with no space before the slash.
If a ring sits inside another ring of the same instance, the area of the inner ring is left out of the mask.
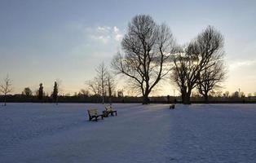
<path id="1" fill-rule="evenodd" d="M 256 92 L 255 8 L 254 0 L 1 0 L 0 80 L 9 75 L 13 94 L 27 86 L 37 90 L 41 82 L 51 93 L 56 79 L 63 93 L 79 92 L 121 49 L 129 21 L 147 14 L 168 24 L 181 45 L 208 25 L 218 29 L 228 68 L 223 92 L 247 95 Z M 117 89 L 126 88 L 121 83 Z M 167 85 L 155 95 L 173 95 L 175 87 Z"/>

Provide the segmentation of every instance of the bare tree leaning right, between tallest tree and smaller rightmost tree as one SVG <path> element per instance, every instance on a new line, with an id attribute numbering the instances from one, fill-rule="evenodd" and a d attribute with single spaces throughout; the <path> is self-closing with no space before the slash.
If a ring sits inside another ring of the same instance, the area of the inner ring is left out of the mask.
<path id="1" fill-rule="evenodd" d="M 211 60 L 223 53 L 222 48 L 223 36 L 208 26 L 186 48 L 174 54 L 172 78 L 179 86 L 183 104 L 190 104 L 192 89 L 198 85 L 201 72 L 214 66 Z"/>

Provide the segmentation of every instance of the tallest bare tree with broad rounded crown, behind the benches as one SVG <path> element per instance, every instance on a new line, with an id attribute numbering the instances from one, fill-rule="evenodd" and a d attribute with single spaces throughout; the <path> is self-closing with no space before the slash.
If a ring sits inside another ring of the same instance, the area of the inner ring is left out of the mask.
<path id="1" fill-rule="evenodd" d="M 156 24 L 149 15 L 136 15 L 121 46 L 124 55 L 114 57 L 113 68 L 130 79 L 133 88 L 143 95 L 143 104 L 148 104 L 154 86 L 170 72 L 173 35 L 166 24 Z"/>

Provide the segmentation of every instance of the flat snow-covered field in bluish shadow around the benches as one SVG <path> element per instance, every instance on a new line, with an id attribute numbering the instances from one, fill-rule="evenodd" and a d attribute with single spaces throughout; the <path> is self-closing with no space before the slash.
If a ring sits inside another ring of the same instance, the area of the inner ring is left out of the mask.
<path id="1" fill-rule="evenodd" d="M 256 162 L 255 104 L 0 106 L 0 162 Z"/>

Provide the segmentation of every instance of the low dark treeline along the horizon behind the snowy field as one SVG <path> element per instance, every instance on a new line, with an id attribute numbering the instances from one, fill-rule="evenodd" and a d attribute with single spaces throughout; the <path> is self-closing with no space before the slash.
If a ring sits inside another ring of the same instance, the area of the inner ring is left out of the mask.
<path id="1" fill-rule="evenodd" d="M 0 95 L 0 103 L 4 102 L 4 95 Z M 52 96 L 44 95 L 42 99 L 38 99 L 38 95 L 7 95 L 7 103 L 53 103 L 55 104 L 55 99 Z M 143 97 L 141 96 L 122 96 L 114 95 L 109 100 L 108 96 L 105 96 L 104 103 L 142 103 Z M 237 92 L 232 95 L 216 95 L 209 97 L 209 100 L 205 102 L 205 99 L 200 95 L 192 95 L 192 104 L 225 104 L 225 103 L 256 103 L 256 96 L 247 96 L 237 94 Z M 58 98 L 58 103 L 96 103 L 102 104 L 102 97 L 100 95 L 82 95 L 78 93 L 77 95 L 60 95 Z M 150 104 L 181 104 L 181 96 L 152 96 L 148 97 L 148 103 Z"/>

